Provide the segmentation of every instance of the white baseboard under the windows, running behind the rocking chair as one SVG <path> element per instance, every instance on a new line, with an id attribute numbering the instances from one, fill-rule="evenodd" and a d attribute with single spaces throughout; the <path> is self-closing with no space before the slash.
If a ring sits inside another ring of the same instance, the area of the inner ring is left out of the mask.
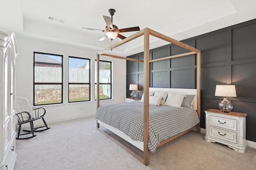
<path id="1" fill-rule="evenodd" d="M 71 116 L 71 117 L 62 117 L 60 119 L 52 119 L 52 120 L 46 120 L 47 125 L 49 125 L 50 123 L 57 123 L 60 121 L 68 121 L 68 120 L 72 120 L 72 119 L 80 119 L 80 118 L 84 118 L 84 117 L 92 117 L 95 116 L 95 114 L 86 114 L 86 115 L 78 115 L 78 116 Z M 36 120 L 34 121 L 34 127 L 37 126 L 41 126 L 44 125 L 44 122 L 42 121 L 42 119 Z M 26 128 L 26 127 L 30 127 L 29 123 L 25 123 L 24 125 L 22 125 L 22 129 Z M 16 129 L 18 129 L 19 127 L 16 125 Z"/>

